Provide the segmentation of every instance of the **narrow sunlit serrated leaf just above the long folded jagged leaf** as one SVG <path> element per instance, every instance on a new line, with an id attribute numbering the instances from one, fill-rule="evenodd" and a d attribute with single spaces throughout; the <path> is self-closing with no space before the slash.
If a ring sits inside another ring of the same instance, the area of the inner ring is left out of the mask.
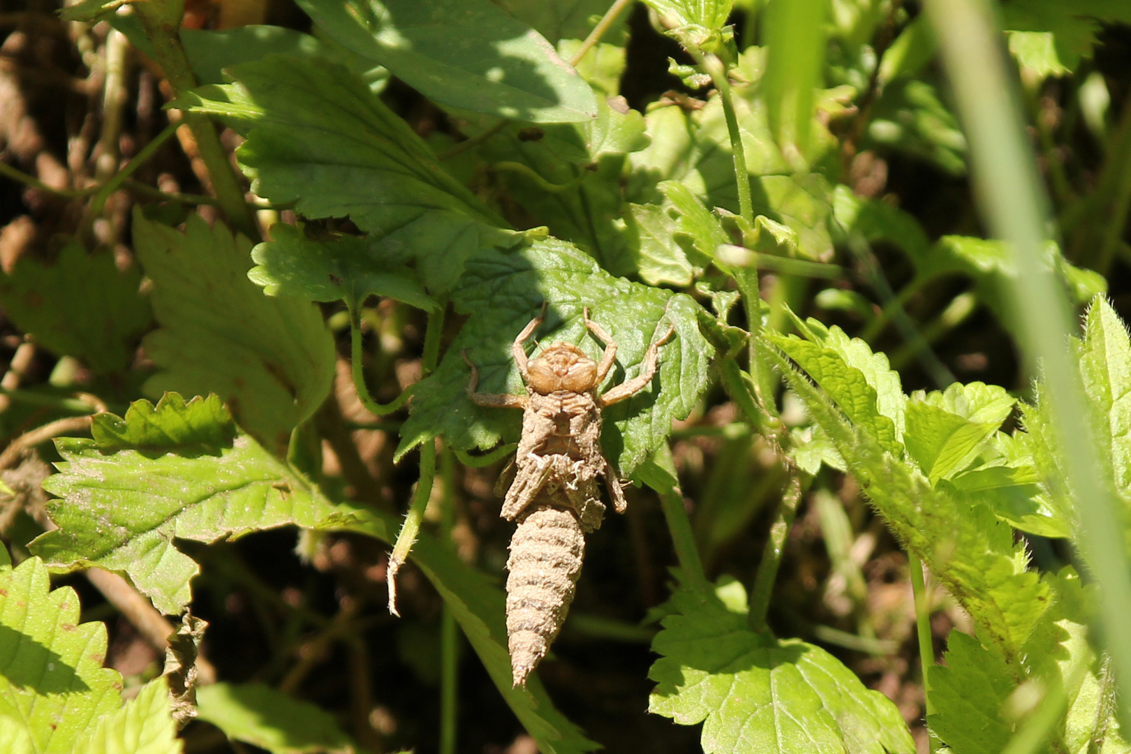
<path id="1" fill-rule="evenodd" d="M 896 423 L 890 416 L 880 413 L 878 392 L 869 384 L 863 371 L 851 366 L 832 347 L 802 340 L 796 336 L 774 333 L 769 338 L 832 397 L 854 424 L 866 426 L 884 450 L 900 451 Z M 878 356 L 883 357 L 882 354 Z M 887 358 L 883 357 L 883 361 L 887 362 Z M 903 396 L 901 391 L 899 396 Z M 845 460 L 852 462 L 848 457 Z"/>

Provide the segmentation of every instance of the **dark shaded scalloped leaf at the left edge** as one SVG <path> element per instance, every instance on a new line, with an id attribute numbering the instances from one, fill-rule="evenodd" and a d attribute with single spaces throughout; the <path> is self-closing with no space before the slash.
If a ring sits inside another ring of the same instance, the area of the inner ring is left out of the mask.
<path id="1" fill-rule="evenodd" d="M 71 242 L 53 265 L 25 255 L 0 272 L 0 305 L 36 344 L 109 374 L 129 367 L 153 321 L 140 284 L 136 265 L 120 271 L 109 251 L 88 254 Z"/>

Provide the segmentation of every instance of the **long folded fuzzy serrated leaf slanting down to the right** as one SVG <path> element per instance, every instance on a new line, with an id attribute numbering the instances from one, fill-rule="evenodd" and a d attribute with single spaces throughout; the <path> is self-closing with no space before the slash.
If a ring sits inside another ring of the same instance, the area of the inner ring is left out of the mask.
<path id="1" fill-rule="evenodd" d="M 774 336 L 775 341 L 779 339 L 784 340 Z M 795 344 L 815 347 L 801 340 Z M 987 508 L 972 506 L 933 487 L 917 468 L 886 452 L 870 424 L 849 423 L 829 397 L 777 352 L 765 345 L 760 350 L 777 364 L 904 546 L 922 558 L 966 608 L 979 635 L 994 641 L 1009 662 L 1019 664 L 1021 648 L 1050 599 L 1047 584 L 1027 567 L 1025 544 L 1015 543 L 1012 529 L 999 523 Z M 821 370 L 829 369 L 819 358 L 812 361 Z M 839 357 L 829 363 L 845 369 Z M 823 387 L 817 375 L 813 379 Z M 834 380 L 830 384 L 841 389 L 841 382 Z M 870 414 L 865 416 L 871 419 Z"/>

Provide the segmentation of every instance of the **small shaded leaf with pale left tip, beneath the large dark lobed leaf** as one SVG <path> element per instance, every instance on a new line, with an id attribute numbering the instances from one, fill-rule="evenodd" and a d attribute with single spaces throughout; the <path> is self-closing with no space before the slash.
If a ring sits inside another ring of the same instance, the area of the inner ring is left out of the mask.
<path id="1" fill-rule="evenodd" d="M 340 236 L 313 241 L 293 225 L 271 227 L 271 240 L 251 250 L 257 267 L 248 278 L 268 296 L 299 296 L 311 301 L 345 301 L 359 311 L 368 296 L 388 296 L 418 309 L 437 307 L 416 274 L 390 265 L 364 239 Z"/>

